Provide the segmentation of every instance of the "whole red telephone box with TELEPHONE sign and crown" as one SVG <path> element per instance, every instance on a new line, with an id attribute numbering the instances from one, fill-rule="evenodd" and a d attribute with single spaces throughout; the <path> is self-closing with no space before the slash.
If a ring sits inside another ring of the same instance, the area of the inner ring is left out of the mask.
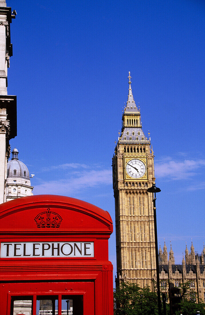
<path id="1" fill-rule="evenodd" d="M 107 211 L 63 196 L 0 205 L 0 315 L 111 315 Z"/>

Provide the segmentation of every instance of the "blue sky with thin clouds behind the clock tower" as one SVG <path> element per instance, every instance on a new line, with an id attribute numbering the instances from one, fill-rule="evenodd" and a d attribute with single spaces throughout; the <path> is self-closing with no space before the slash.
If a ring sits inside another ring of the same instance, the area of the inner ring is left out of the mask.
<path id="1" fill-rule="evenodd" d="M 83 199 L 110 212 L 111 158 L 128 71 L 155 154 L 158 239 L 181 263 L 204 242 L 204 13 L 200 0 L 7 1 L 17 95 L 10 141 L 35 174 L 34 194 Z M 115 232 L 110 240 L 115 267 Z"/>

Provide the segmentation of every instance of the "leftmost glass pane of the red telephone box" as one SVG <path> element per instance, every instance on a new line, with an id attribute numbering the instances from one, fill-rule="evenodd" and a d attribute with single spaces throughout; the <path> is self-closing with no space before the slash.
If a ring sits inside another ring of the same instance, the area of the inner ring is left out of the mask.
<path id="1" fill-rule="evenodd" d="M 32 300 L 19 300 L 19 298 L 13 298 L 11 301 L 11 315 L 31 315 L 32 313 Z"/>

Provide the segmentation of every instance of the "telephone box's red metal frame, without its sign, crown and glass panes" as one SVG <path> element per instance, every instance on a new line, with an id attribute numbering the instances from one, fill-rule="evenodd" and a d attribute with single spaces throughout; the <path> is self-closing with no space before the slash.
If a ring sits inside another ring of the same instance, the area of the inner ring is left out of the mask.
<path id="1" fill-rule="evenodd" d="M 48 208 L 62 218 L 60 227 L 37 227 L 34 218 Z M 37 295 L 58 295 L 59 315 L 62 295 L 83 295 L 84 315 L 113 314 L 107 211 L 63 196 L 31 196 L 0 205 L 0 226 L 1 242 L 94 242 L 93 258 L 0 258 L 0 315 L 10 315 L 13 295 L 32 295 L 33 315 Z"/>

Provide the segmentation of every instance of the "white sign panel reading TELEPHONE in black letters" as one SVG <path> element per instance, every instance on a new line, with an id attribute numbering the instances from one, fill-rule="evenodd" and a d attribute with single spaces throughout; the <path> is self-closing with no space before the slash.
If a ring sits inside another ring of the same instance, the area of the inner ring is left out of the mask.
<path id="1" fill-rule="evenodd" d="M 94 257 L 94 242 L 1 243 L 0 258 Z"/>

